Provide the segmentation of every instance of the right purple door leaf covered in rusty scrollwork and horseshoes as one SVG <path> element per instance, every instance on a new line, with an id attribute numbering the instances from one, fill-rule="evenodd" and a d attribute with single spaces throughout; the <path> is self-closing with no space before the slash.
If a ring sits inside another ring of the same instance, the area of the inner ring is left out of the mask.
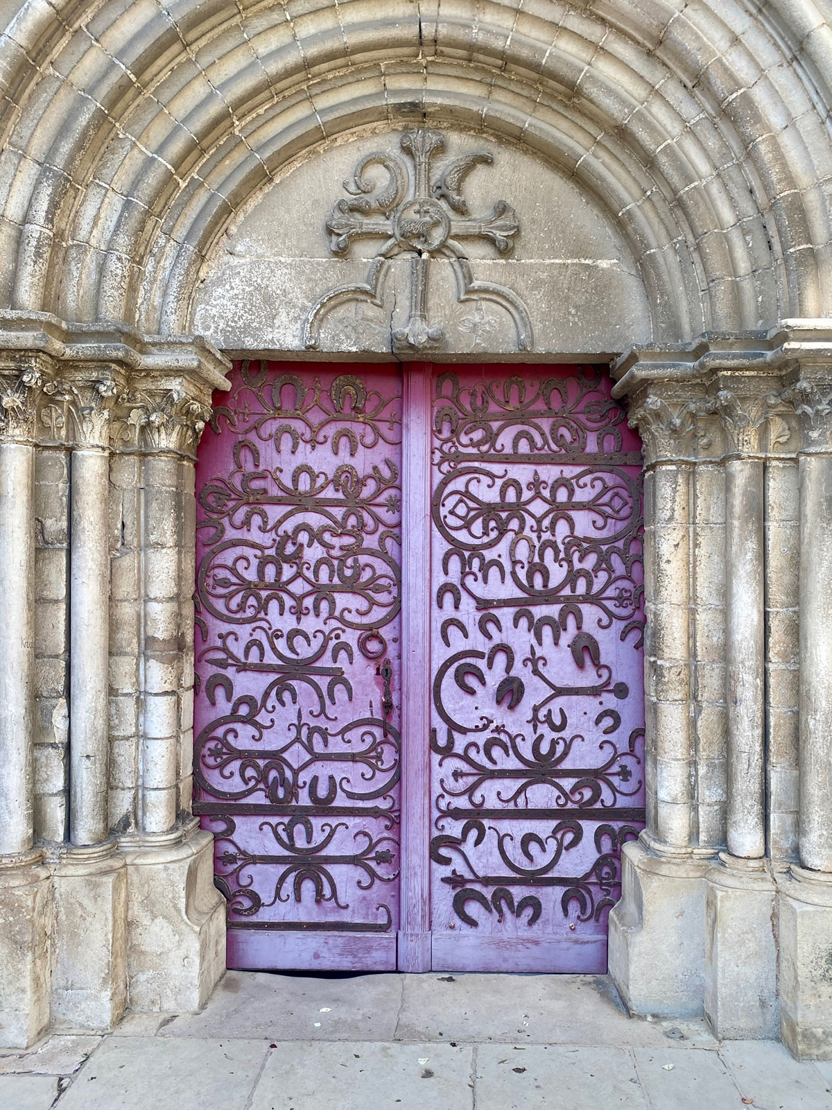
<path id="1" fill-rule="evenodd" d="M 517 967 L 551 966 L 545 941 L 570 932 L 599 941 L 570 969 L 606 966 L 620 847 L 643 823 L 638 448 L 595 367 L 436 380 L 430 858 L 447 966 L 491 966 L 488 942 L 524 934 Z"/>

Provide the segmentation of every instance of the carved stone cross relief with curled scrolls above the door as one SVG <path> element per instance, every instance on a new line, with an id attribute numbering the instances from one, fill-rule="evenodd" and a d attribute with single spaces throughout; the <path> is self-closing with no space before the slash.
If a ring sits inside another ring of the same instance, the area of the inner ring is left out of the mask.
<path id="1" fill-rule="evenodd" d="M 389 262 L 404 255 L 410 262 L 409 314 L 404 327 L 392 331 L 394 350 L 423 351 L 438 347 L 445 331 L 430 323 L 427 315 L 427 281 L 430 259 L 446 259 L 456 278 L 458 301 L 491 301 L 501 305 L 514 322 L 517 346 L 531 346 L 531 323 L 516 293 L 493 282 L 474 281 L 470 264 L 460 240 L 485 239 L 500 254 L 508 254 L 519 231 L 517 214 L 507 201 L 497 201 L 488 215 L 471 216 L 463 196 L 465 176 L 477 164 L 490 164 L 485 152 L 461 154 L 442 163 L 432 172 L 430 162 L 444 150 L 445 139 L 437 131 L 408 131 L 399 154 L 374 151 L 356 165 L 344 188 L 353 198 L 335 202 L 326 230 L 329 249 L 346 254 L 354 239 L 384 236 L 384 244 L 369 264 L 365 282 L 341 285 L 325 293 L 310 310 L 304 324 L 304 343 L 317 347 L 324 316 L 347 301 L 368 301 L 382 307 L 384 282 Z M 386 181 L 377 185 L 366 176 L 369 167 L 381 167 Z"/>

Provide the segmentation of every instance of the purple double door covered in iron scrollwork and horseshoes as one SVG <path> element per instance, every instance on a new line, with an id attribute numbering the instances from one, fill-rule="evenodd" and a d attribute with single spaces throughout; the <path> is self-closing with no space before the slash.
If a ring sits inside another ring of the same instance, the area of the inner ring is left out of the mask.
<path id="1" fill-rule="evenodd" d="M 194 744 L 229 966 L 603 971 L 645 805 L 641 455 L 606 372 L 231 382 Z"/>

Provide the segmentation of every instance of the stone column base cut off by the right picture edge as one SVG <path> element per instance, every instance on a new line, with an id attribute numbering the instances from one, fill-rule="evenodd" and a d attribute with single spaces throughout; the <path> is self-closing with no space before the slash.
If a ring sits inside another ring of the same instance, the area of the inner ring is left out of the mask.
<path id="1" fill-rule="evenodd" d="M 832 875 L 795 865 L 780 882 L 780 1037 L 799 1060 L 832 1059 Z"/>

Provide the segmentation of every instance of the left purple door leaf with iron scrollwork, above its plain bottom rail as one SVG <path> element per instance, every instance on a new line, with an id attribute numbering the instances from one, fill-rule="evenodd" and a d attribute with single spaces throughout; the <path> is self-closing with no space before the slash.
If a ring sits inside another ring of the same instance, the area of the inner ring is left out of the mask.
<path id="1" fill-rule="evenodd" d="M 234 928 L 395 928 L 400 431 L 373 371 L 246 362 L 214 410 L 194 809 Z"/>

